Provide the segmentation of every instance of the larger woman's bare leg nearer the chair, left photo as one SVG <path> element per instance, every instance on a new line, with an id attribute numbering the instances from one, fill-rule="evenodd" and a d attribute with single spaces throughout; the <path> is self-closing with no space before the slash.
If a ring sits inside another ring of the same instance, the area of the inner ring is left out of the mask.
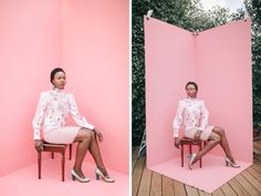
<path id="1" fill-rule="evenodd" d="M 76 158 L 73 169 L 77 173 L 77 175 L 84 177 L 84 174 L 82 172 L 82 163 L 90 147 L 90 144 L 92 143 L 91 132 L 86 132 L 85 128 L 81 128 L 76 137 L 74 138 L 74 142 L 79 142 L 79 144 L 76 147 Z"/>

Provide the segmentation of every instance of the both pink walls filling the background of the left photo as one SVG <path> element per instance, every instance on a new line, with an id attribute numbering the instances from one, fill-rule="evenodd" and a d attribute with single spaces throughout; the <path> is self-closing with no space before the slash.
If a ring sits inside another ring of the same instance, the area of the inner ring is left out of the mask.
<path id="1" fill-rule="evenodd" d="M 0 176 L 35 163 L 31 122 L 56 65 L 103 132 L 107 167 L 127 173 L 128 1 L 2 0 L 0 29 Z"/>

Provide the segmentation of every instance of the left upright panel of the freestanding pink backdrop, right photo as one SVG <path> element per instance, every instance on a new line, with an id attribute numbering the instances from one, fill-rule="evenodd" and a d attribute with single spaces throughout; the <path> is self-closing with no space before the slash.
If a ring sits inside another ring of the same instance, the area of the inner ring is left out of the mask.
<path id="1" fill-rule="evenodd" d="M 191 32 L 156 19 L 145 21 L 147 166 L 179 154 L 171 121 L 185 83 L 195 79 Z"/>

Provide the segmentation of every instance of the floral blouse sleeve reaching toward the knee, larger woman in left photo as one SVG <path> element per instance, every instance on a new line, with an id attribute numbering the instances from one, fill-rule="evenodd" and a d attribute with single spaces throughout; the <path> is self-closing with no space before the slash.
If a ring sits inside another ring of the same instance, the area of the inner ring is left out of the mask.
<path id="1" fill-rule="evenodd" d="M 72 94 L 69 94 L 69 103 L 70 103 L 70 113 L 72 114 L 74 122 L 81 127 L 95 131 L 94 125 L 87 123 L 86 118 L 79 114 L 77 105 Z"/>

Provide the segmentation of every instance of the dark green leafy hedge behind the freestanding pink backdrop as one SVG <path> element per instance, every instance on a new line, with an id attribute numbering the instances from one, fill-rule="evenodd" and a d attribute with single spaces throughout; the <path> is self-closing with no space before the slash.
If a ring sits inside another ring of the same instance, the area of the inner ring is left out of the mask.
<path id="1" fill-rule="evenodd" d="M 225 24 L 232 20 L 239 20 L 243 18 L 243 10 L 238 10 L 237 13 L 230 13 L 228 9 L 216 7 L 213 10 L 205 11 L 199 0 L 165 0 L 165 1 L 133 0 L 133 17 L 132 17 L 133 122 L 132 123 L 133 123 L 134 146 L 140 143 L 143 132 L 146 126 L 144 16 L 150 9 L 154 11 L 153 18 L 175 24 L 189 31 L 203 31 L 217 25 Z M 251 9 L 253 8 L 251 7 Z M 257 48 L 254 49 L 258 50 Z M 259 71 L 258 73 L 260 74 L 261 72 Z M 257 81 L 257 83 L 259 83 L 260 85 L 260 82 Z M 258 87 L 258 84 L 255 85 L 255 87 L 257 90 L 260 89 Z M 259 106 L 261 106 L 260 104 L 261 102 L 258 101 L 258 103 Z"/>

